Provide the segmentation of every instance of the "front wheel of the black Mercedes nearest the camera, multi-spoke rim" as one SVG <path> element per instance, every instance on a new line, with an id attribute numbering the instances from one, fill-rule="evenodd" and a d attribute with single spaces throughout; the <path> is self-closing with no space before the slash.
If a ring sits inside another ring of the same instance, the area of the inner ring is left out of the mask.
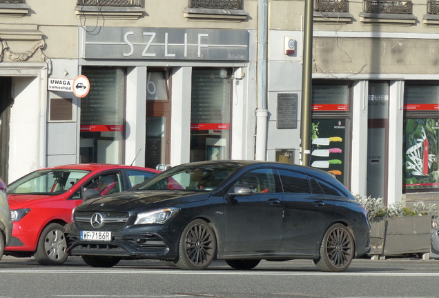
<path id="1" fill-rule="evenodd" d="M 182 232 L 178 246 L 178 268 L 202 270 L 215 259 L 217 241 L 211 226 L 202 219 L 191 221 Z"/>

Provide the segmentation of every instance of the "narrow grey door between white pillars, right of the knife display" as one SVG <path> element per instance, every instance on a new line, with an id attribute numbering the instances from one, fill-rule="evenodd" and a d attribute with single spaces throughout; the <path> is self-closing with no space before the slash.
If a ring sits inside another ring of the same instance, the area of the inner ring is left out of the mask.
<path id="1" fill-rule="evenodd" d="M 389 82 L 369 82 L 368 115 L 367 195 L 387 203 Z"/>

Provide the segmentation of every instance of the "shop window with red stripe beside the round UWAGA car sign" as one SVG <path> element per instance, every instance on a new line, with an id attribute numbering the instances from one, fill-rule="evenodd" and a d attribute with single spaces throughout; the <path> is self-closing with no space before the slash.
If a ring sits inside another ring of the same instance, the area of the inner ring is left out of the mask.
<path id="1" fill-rule="evenodd" d="M 80 162 L 123 163 L 125 72 L 84 67 L 90 92 L 81 99 Z"/>

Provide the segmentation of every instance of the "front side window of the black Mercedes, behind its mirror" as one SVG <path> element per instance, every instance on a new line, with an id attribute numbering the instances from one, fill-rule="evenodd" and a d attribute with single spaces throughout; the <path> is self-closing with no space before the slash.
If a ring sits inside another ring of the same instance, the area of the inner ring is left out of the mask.
<path id="1" fill-rule="evenodd" d="M 246 172 L 235 185 L 249 186 L 255 193 L 276 192 L 273 170 L 269 168 Z"/>

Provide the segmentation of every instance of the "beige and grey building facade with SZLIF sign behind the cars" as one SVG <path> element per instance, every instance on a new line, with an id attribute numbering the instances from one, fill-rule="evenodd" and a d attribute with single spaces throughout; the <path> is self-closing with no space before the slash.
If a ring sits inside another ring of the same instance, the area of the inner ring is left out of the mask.
<path id="1" fill-rule="evenodd" d="M 436 1 L 313 4 L 310 165 L 387 203 L 435 197 Z M 300 163 L 304 1 L 16 0 L 0 15 L 9 183 L 79 162 Z"/>

